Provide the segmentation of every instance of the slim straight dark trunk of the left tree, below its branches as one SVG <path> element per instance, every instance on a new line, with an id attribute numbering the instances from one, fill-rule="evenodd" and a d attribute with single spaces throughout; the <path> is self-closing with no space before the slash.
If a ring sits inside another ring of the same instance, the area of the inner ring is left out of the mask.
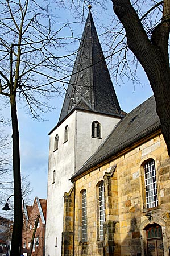
<path id="1" fill-rule="evenodd" d="M 22 243 L 22 225 L 23 225 L 23 210 L 22 210 L 22 192 L 21 192 L 21 177 L 20 177 L 20 152 L 19 152 L 19 130 L 18 118 L 16 111 L 16 96 L 11 94 L 11 120 L 13 129 L 13 176 L 14 176 L 14 226 L 12 234 L 10 256 L 20 256 Z"/>

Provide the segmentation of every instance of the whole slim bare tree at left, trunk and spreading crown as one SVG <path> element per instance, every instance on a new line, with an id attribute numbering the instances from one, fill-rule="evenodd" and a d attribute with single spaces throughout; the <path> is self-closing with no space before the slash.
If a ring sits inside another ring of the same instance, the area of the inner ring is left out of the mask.
<path id="1" fill-rule="evenodd" d="M 69 70 L 60 49 L 74 42 L 69 23 L 57 23 L 49 1 L 0 0 L 0 94 L 10 104 L 13 132 L 14 226 L 11 256 L 20 254 L 22 189 L 16 102 L 34 118 L 45 112 L 51 96 L 62 93 L 59 76 Z M 67 33 L 67 38 L 64 36 Z M 58 83 L 57 83 L 58 82 Z"/>

